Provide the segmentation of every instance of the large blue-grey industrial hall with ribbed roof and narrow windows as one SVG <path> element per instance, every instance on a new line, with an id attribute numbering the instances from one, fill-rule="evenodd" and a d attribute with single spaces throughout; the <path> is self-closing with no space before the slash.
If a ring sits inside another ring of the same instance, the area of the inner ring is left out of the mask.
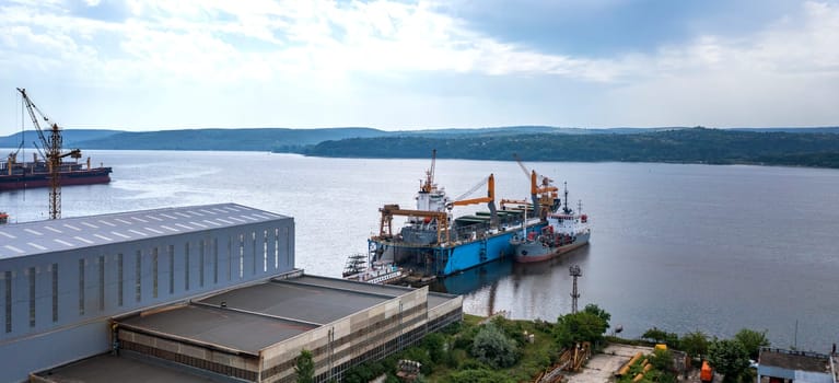
<path id="1" fill-rule="evenodd" d="M 0 382 L 107 352 L 113 316 L 293 268 L 293 219 L 235 204 L 0 225 Z"/>

